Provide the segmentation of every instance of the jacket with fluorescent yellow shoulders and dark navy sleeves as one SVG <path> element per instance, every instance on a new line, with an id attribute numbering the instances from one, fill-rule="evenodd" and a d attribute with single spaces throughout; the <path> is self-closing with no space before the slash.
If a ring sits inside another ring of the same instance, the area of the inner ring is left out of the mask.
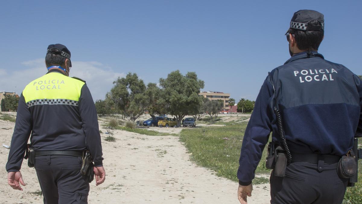
<path id="1" fill-rule="evenodd" d="M 84 81 L 50 70 L 20 95 L 6 170 L 19 171 L 31 132 L 34 151 L 88 149 L 102 166 L 96 108 Z"/>

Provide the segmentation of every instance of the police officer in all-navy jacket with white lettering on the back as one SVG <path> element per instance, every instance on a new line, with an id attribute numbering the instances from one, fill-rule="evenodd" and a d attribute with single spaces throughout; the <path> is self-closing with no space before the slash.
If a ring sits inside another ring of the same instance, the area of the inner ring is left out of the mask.
<path id="1" fill-rule="evenodd" d="M 245 130 L 238 199 L 247 203 L 251 196 L 270 132 L 272 140 L 282 142 L 274 113 L 277 103 L 292 159 L 284 177 L 271 173 L 271 203 L 342 203 L 348 179 L 340 178 L 336 168 L 352 149 L 353 138 L 362 136 L 362 81 L 317 52 L 324 37 L 323 14 L 295 12 L 286 37 L 291 58 L 266 77 Z"/>

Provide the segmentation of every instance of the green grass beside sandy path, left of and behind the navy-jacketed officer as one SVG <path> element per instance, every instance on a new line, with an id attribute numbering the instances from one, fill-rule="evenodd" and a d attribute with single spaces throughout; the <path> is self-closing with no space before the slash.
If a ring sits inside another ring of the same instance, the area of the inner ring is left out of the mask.
<path id="1" fill-rule="evenodd" d="M 246 126 L 247 123 L 237 123 L 223 127 L 185 128 L 180 133 L 180 140 L 185 142 L 188 151 L 192 153 L 191 158 L 199 165 L 214 170 L 218 176 L 238 181 L 236 172 Z M 266 150 L 256 173 L 270 174 L 270 170 L 265 168 Z M 264 178 L 256 181 L 269 182 Z"/>

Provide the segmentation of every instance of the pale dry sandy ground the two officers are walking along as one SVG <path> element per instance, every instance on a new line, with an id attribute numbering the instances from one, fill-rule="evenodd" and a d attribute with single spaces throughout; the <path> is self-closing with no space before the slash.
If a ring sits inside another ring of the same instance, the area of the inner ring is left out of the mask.
<path id="1" fill-rule="evenodd" d="M 0 120 L 0 144 L 10 144 L 13 127 L 13 122 Z M 177 133 L 182 128 L 150 129 Z M 147 136 L 122 130 L 113 133 L 116 142 L 106 142 L 107 135 L 101 134 L 106 180 L 98 187 L 91 183 L 89 203 L 238 203 L 237 183 L 191 162 L 177 136 Z M 0 203 L 42 203 L 41 196 L 32 194 L 40 187 L 27 160 L 21 169 L 27 184 L 24 191 L 8 186 L 8 152 L 0 147 Z M 257 204 L 269 200 L 269 184 L 254 186 L 253 196 L 248 198 L 249 203 Z"/>

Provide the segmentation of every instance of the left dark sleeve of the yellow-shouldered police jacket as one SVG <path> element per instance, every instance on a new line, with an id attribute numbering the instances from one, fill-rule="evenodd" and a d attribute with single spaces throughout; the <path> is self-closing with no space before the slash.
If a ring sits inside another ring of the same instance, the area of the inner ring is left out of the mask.
<path id="1" fill-rule="evenodd" d="M 6 164 L 6 170 L 8 172 L 20 171 L 25 154 L 26 143 L 29 140 L 32 128 L 30 111 L 25 103 L 24 96 L 21 94 L 18 103 L 14 133 L 10 143 L 8 163 Z"/>

